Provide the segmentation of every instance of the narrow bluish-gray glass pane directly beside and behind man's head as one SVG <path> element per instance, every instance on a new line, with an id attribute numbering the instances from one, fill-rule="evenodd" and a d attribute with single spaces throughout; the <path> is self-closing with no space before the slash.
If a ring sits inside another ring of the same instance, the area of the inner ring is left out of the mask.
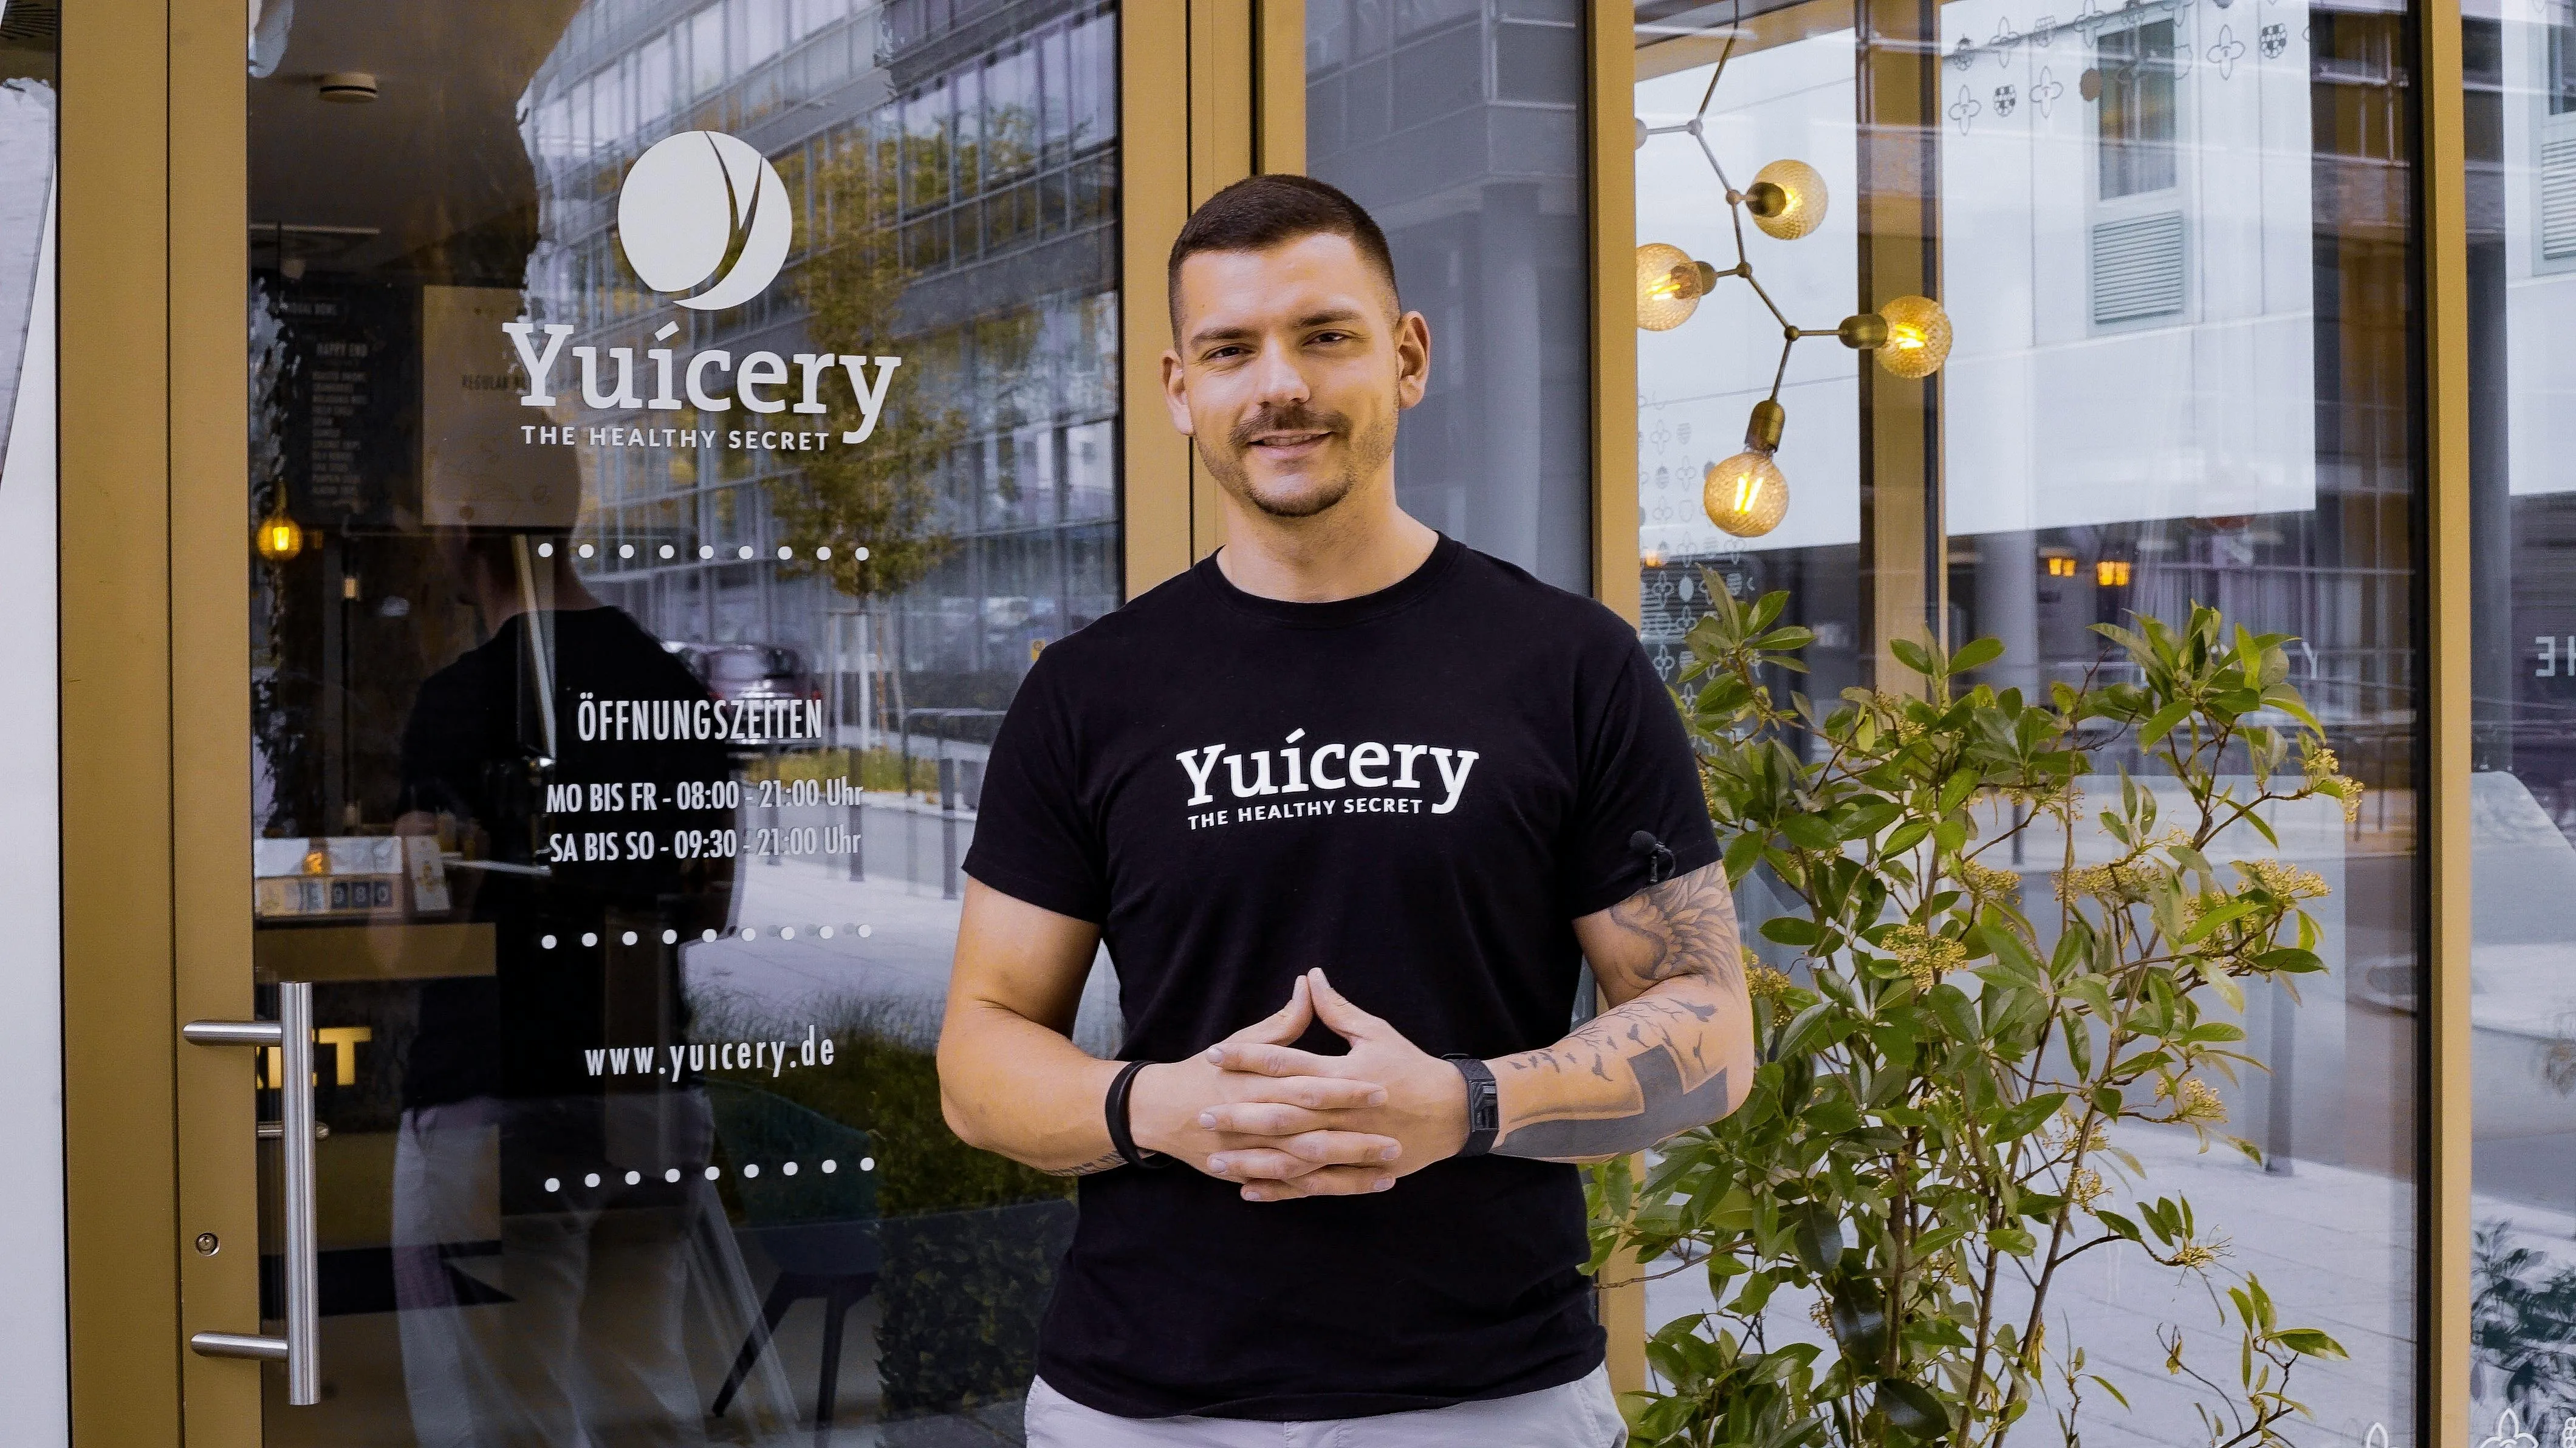
<path id="1" fill-rule="evenodd" d="M 1571 0 L 1314 0 L 1306 170 L 1386 229 L 1432 376 L 1414 518 L 1592 593 L 1584 31 Z"/>

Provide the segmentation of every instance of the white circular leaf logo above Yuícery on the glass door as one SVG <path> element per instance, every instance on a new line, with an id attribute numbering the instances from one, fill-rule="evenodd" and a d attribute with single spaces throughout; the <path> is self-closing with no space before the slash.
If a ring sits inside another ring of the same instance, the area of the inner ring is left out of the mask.
<path id="1" fill-rule="evenodd" d="M 680 307 L 716 312 L 760 296 L 788 260 L 788 188 L 765 155 L 721 131 L 654 142 L 618 193 L 626 265 Z M 708 286 L 711 283 L 711 286 Z"/>

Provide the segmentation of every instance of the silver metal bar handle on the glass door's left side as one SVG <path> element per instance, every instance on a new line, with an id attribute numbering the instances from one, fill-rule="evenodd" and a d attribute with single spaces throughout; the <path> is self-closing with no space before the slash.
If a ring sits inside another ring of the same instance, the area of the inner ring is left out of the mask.
<path id="1" fill-rule="evenodd" d="M 286 1337 L 198 1332 L 188 1348 L 201 1358 L 263 1358 L 286 1363 L 286 1404 L 322 1402 L 322 1273 L 314 1252 L 314 987 L 278 984 L 276 1020 L 191 1020 L 180 1028 L 196 1046 L 276 1046 L 286 1074 L 278 1082 L 278 1157 L 286 1177 Z M 260 1136 L 268 1136 L 263 1129 Z"/>

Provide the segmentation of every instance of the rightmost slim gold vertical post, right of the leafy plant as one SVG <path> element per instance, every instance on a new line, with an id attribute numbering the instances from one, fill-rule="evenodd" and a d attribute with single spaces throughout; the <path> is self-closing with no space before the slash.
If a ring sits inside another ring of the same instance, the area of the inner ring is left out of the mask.
<path id="1" fill-rule="evenodd" d="M 2421 848 L 2432 958 L 2421 995 L 2427 1041 L 2424 1121 L 2424 1337 L 2427 1443 L 2468 1443 L 2470 1244 L 2470 479 L 2468 479 L 2468 144 L 2460 75 L 2460 0 L 2416 10 L 2424 126 L 2424 443 L 2427 443 L 2427 770 Z"/>

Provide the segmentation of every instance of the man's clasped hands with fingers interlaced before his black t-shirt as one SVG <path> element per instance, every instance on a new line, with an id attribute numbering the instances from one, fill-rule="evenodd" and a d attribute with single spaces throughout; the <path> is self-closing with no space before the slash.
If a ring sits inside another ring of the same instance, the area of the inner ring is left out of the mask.
<path id="1" fill-rule="evenodd" d="M 1291 1046 L 1316 1020 L 1350 1054 Z M 1455 1157 L 1466 1077 L 1306 971 L 1288 1005 L 1185 1062 L 1136 1072 L 1128 1129 L 1244 1201 L 1358 1196 Z"/>

